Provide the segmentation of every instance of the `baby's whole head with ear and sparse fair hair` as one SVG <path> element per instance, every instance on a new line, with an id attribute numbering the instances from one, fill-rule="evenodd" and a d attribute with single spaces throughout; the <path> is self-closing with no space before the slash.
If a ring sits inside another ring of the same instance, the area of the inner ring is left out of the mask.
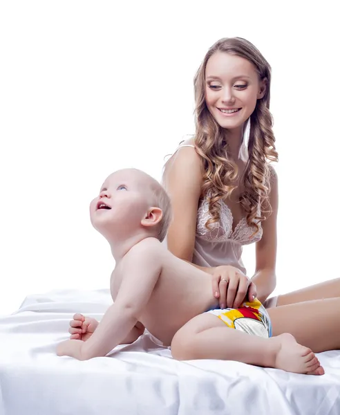
<path id="1" fill-rule="evenodd" d="M 90 214 L 95 229 L 109 241 L 142 231 L 162 242 L 171 221 L 171 203 L 149 174 L 123 169 L 106 178 L 91 202 Z"/>

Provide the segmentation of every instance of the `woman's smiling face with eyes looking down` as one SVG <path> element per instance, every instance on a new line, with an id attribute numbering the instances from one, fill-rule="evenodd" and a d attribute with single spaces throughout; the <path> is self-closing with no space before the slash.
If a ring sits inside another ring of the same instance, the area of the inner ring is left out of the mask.
<path id="1" fill-rule="evenodd" d="M 216 122 L 236 129 L 251 116 L 256 101 L 265 94 L 265 80 L 243 57 L 216 52 L 205 68 L 205 102 Z"/>

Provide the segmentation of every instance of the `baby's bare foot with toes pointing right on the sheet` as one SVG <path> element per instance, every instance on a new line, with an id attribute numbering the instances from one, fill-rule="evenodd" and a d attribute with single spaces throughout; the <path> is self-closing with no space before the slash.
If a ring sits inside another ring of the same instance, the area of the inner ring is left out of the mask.
<path id="1" fill-rule="evenodd" d="M 297 343 L 291 334 L 283 333 L 270 340 L 275 342 L 277 347 L 274 364 L 276 369 L 283 369 L 296 374 L 325 374 L 319 359 L 314 353 L 308 347 Z"/>

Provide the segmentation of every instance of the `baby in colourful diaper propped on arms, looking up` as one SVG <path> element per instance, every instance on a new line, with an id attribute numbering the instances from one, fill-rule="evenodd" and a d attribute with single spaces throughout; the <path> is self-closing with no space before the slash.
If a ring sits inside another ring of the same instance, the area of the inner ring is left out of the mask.
<path id="1" fill-rule="evenodd" d="M 91 202 L 91 222 L 110 243 L 114 301 L 102 320 L 76 314 L 58 356 L 87 360 L 138 339 L 144 328 L 178 360 L 237 360 L 322 375 L 319 360 L 290 334 L 271 337 L 265 308 L 254 299 L 218 308 L 211 275 L 178 259 L 161 243 L 171 221 L 169 196 L 153 178 L 124 169 L 106 178 Z"/>

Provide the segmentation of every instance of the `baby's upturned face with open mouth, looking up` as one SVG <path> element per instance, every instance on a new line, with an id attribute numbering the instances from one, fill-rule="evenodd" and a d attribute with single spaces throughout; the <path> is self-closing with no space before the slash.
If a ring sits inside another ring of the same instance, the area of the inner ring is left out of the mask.
<path id="1" fill-rule="evenodd" d="M 148 187 L 140 172 L 120 170 L 108 176 L 100 194 L 90 205 L 91 222 L 95 229 L 110 237 L 138 229 L 149 208 Z"/>

